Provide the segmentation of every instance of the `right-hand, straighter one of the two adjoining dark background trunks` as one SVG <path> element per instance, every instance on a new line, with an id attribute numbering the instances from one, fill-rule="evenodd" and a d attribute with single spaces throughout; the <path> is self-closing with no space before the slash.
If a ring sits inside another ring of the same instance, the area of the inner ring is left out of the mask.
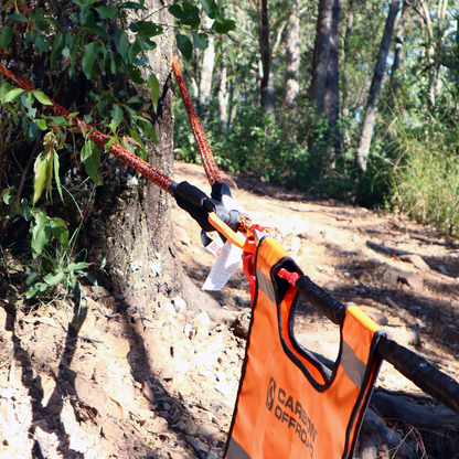
<path id="1" fill-rule="evenodd" d="M 340 114 L 340 71 L 339 71 L 339 42 L 340 42 L 340 15 L 341 0 L 333 1 L 329 65 L 327 72 L 325 95 L 323 98 L 323 111 L 329 120 L 329 151 L 341 156 L 341 139 L 338 129 L 338 118 Z"/>

